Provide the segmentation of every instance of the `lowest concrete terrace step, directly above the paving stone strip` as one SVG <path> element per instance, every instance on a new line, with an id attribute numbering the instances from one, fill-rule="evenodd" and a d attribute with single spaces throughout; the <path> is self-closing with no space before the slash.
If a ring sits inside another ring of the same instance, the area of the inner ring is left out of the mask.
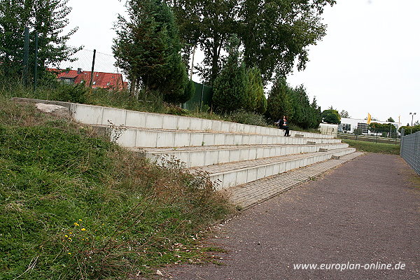
<path id="1" fill-rule="evenodd" d="M 230 162 L 221 165 L 193 167 L 191 171 L 207 172 L 217 189 L 230 188 L 291 169 L 304 167 L 316 162 L 329 160 L 332 155 L 347 155 L 356 151 L 354 148 L 341 148 L 328 152 L 283 155 L 280 157 Z"/>

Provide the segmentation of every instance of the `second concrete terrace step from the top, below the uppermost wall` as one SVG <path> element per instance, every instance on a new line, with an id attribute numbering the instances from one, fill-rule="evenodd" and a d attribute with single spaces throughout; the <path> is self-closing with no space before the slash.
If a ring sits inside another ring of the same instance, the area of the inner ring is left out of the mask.
<path id="1" fill-rule="evenodd" d="M 307 144 L 311 140 L 316 144 L 341 143 L 339 139 L 328 138 L 295 138 L 260 134 L 239 134 L 228 132 L 192 132 L 174 130 L 148 130 L 140 128 L 109 128 L 96 125 L 97 131 L 106 133 L 111 130 L 111 139 L 123 147 L 182 147 L 182 146 L 216 146 L 216 145 L 258 145 L 258 144 Z"/>

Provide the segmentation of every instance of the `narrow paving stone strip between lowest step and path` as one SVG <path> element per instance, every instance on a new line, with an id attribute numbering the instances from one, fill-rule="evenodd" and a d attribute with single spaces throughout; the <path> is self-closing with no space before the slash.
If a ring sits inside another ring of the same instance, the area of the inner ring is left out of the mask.
<path id="1" fill-rule="evenodd" d="M 239 205 L 241 208 L 246 209 L 264 200 L 268 200 L 275 195 L 293 188 L 304 181 L 309 181 L 311 178 L 322 174 L 334 167 L 342 165 L 344 162 L 353 160 L 363 153 L 351 153 L 344 155 L 339 160 L 326 160 L 318 162 L 314 165 L 301 167 L 298 169 L 283 172 L 274 176 L 269 176 L 258 181 L 246 183 L 244 185 L 235 186 L 223 190 L 230 196 L 230 200 Z"/>

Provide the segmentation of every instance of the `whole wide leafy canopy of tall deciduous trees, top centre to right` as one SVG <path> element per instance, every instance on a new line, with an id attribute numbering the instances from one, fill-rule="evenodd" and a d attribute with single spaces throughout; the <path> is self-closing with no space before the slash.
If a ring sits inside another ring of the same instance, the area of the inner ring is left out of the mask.
<path id="1" fill-rule="evenodd" d="M 171 1 L 189 57 L 193 45 L 204 50 L 201 74 L 213 85 L 221 69 L 221 53 L 232 34 L 244 46 L 244 62 L 256 66 L 266 83 L 277 71 L 304 69 L 309 45 L 325 36 L 320 15 L 334 0 L 177 0 Z M 187 59 L 186 59 L 187 60 Z"/>

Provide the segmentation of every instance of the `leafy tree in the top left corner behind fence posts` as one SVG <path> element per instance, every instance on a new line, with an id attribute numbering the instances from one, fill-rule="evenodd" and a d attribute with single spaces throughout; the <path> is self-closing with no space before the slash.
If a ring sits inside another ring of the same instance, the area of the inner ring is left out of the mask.
<path id="1" fill-rule="evenodd" d="M 5 76 L 21 77 L 24 57 L 24 31 L 29 27 L 29 69 L 34 68 L 34 37 L 38 33 L 38 70 L 57 66 L 80 48 L 66 45 L 77 28 L 62 35 L 69 24 L 69 0 L 0 0 L 0 64 Z M 0 72 L 1 72 L 0 71 Z"/>

